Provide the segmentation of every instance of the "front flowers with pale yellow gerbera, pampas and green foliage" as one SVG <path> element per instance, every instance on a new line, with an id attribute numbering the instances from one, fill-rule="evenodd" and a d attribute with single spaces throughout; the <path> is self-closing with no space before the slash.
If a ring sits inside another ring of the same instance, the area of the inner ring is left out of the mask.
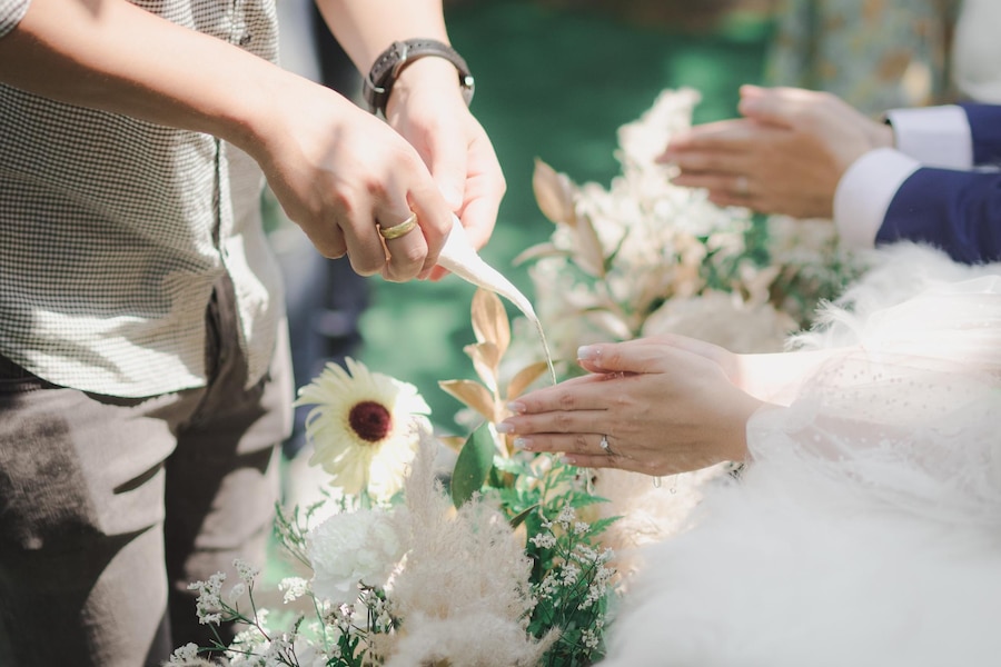
<path id="1" fill-rule="evenodd" d="M 355 360 L 300 389 L 310 464 L 331 492 L 279 507 L 298 576 L 279 584 L 280 609 L 258 606 L 259 573 L 244 563 L 228 588 L 221 573 L 191 584 L 202 624 L 242 630 L 180 647 L 170 665 L 574 667 L 603 656 L 616 570 L 601 536 L 615 519 L 593 519 L 601 500 L 577 469 L 496 431 L 546 366 L 502 380 L 511 328 L 492 292 L 476 292 L 473 323 L 480 381 L 442 384 L 482 418 L 460 442 L 432 432 L 415 387 Z"/>

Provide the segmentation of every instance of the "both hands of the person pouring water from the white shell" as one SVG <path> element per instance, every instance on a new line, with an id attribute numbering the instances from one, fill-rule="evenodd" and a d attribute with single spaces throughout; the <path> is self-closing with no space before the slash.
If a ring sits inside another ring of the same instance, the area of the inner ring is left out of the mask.
<path id="1" fill-rule="evenodd" d="M 407 67 L 389 98 L 388 125 L 328 88 L 281 74 L 238 146 L 321 255 L 347 255 L 361 276 L 405 281 L 440 275 L 454 213 L 476 246 L 487 241 L 504 177 L 452 63 L 423 58 Z M 414 213 L 417 228 L 388 231 Z"/>

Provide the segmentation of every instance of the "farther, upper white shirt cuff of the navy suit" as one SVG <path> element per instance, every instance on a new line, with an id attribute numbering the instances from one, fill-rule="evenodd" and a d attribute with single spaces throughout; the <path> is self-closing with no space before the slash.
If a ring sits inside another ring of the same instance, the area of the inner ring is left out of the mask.
<path id="1" fill-rule="evenodd" d="M 973 167 L 973 137 L 962 107 L 893 109 L 886 119 L 893 126 L 896 149 L 925 167 Z"/>

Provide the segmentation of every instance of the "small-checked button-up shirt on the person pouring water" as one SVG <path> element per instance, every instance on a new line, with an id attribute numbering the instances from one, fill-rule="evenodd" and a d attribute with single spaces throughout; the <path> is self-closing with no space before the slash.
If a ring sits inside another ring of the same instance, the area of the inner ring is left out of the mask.
<path id="1" fill-rule="evenodd" d="M 0 36 L 29 2 L 0 0 Z M 275 0 L 136 4 L 277 59 Z M 206 306 L 228 272 L 256 382 L 284 316 L 262 185 L 215 137 L 0 84 L 0 355 L 103 395 L 202 386 Z"/>

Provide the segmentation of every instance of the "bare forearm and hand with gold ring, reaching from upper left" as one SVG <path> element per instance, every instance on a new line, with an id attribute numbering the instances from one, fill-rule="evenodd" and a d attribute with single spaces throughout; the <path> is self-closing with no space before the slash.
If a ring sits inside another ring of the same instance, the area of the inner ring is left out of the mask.
<path id="1" fill-rule="evenodd" d="M 334 91 L 125 0 L 31 0 L 0 38 L 0 81 L 230 141 L 258 161 L 320 252 L 348 253 L 363 275 L 427 275 L 452 228 L 452 209 L 420 156 L 385 123 Z M 390 226 L 412 209 L 424 233 L 390 241 L 387 262 L 375 222 Z"/>

